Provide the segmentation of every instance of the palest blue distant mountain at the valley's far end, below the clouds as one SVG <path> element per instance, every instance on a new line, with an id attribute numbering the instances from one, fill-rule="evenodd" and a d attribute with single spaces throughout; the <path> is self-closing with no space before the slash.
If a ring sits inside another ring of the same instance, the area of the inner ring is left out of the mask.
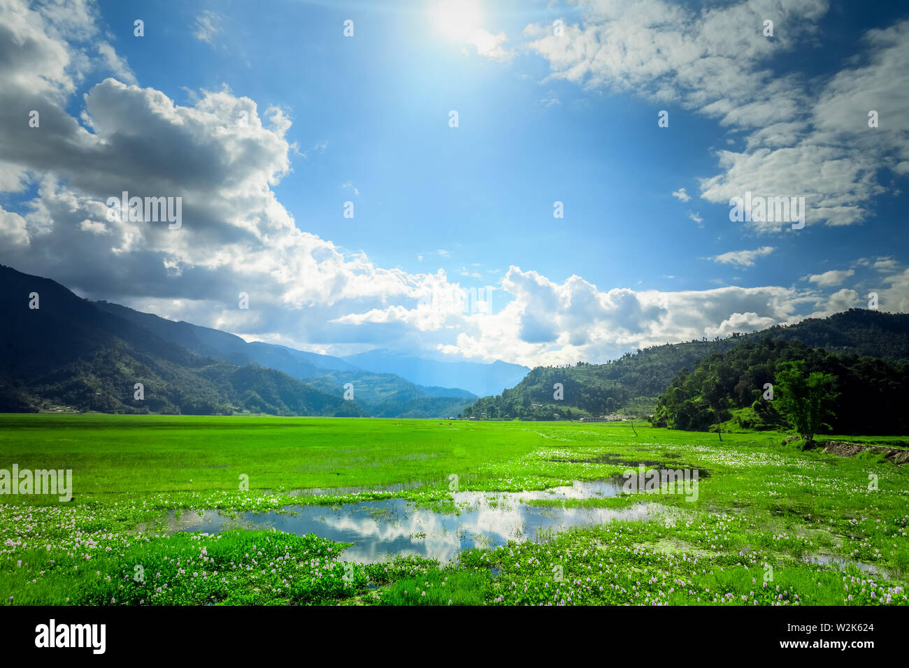
<path id="1" fill-rule="evenodd" d="M 530 369 L 520 364 L 496 360 L 490 364 L 478 362 L 439 362 L 388 350 L 371 350 L 348 355 L 346 362 L 376 374 L 397 374 L 411 383 L 463 387 L 483 396 L 501 393 L 521 381 Z"/>

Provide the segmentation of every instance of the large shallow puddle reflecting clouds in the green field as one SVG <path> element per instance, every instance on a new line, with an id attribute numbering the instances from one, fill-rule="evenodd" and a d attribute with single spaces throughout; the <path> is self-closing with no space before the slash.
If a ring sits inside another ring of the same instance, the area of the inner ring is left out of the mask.
<path id="1" fill-rule="evenodd" d="M 590 481 L 534 492 L 457 492 L 452 494 L 460 514 L 417 508 L 405 499 L 384 499 L 342 505 L 289 505 L 295 514 L 241 513 L 225 517 L 217 511 L 182 513 L 169 518 L 171 531 L 218 533 L 226 529 L 270 529 L 303 535 L 315 533 L 342 543 L 354 543 L 343 559 L 375 563 L 396 555 L 415 554 L 453 561 L 472 547 L 491 548 L 509 540 L 539 540 L 546 533 L 572 526 L 613 520 L 647 521 L 674 513 L 660 503 L 635 503 L 624 508 L 538 507 L 540 499 L 591 499 L 620 494 L 621 484 Z"/>

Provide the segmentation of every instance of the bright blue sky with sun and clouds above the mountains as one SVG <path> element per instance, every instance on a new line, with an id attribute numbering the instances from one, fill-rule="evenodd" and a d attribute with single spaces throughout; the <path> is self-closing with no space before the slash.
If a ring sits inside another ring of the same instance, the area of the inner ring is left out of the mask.
<path id="1" fill-rule="evenodd" d="M 45 55 L 54 43 L 70 55 L 62 73 L 48 56 L 45 103 L 82 128 L 69 141 L 85 144 L 87 172 L 9 140 L 16 176 L 0 184 L 18 184 L 0 188 L 0 205 L 16 244 L 0 261 L 80 294 L 317 352 L 404 346 L 531 365 L 864 307 L 870 290 L 884 310 L 909 308 L 909 13 L 895 5 L 74 2 L 65 28 L 52 8 L 21 11 L 43 29 Z M 220 181 L 174 185 L 190 211 L 210 198 L 212 218 L 189 214 L 179 241 L 85 224 L 93 198 L 172 176 L 143 146 L 176 165 L 239 150 L 221 116 L 199 116 L 188 144 L 185 120 L 151 132 L 140 116 L 161 117 L 155 95 L 184 118 L 248 102 L 262 120 L 245 155 L 212 165 Z M 115 135 L 135 147 L 105 158 L 123 162 L 124 184 L 86 175 Z M 234 174 L 243 193 L 227 194 Z M 81 207 L 69 224 L 67 189 Z M 804 229 L 731 222 L 730 195 L 746 189 L 804 195 Z M 225 224 L 222 205 L 257 221 L 258 245 L 238 241 L 243 225 Z M 263 230 L 287 221 L 318 241 L 295 236 L 275 254 Z M 128 251 L 94 244 L 88 262 L 64 232 L 74 225 L 94 242 L 119 235 Z M 315 264 L 289 261 L 294 244 Z M 444 281 L 427 278 L 439 270 Z M 245 285 L 253 314 L 231 302 Z M 490 312 L 439 306 L 440 291 L 471 287 L 494 288 Z"/>

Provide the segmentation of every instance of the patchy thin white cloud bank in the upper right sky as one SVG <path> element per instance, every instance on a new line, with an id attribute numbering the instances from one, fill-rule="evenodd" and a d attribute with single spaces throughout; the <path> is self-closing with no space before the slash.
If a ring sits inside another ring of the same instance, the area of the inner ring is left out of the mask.
<path id="1" fill-rule="evenodd" d="M 564 36 L 545 24 L 524 30 L 549 62 L 548 78 L 681 105 L 748 133 L 741 152 L 718 151 L 721 173 L 701 180 L 708 202 L 727 204 L 745 191 L 804 196 L 806 224 L 855 224 L 886 190 L 882 168 L 909 174 L 909 20 L 869 31 L 863 57 L 851 61 L 862 65 L 809 82 L 774 72 L 774 62 L 812 39 L 826 0 L 578 5 L 584 18 Z M 777 25 L 772 40 L 759 29 L 766 16 Z M 879 128 L 868 127 L 869 109 L 879 112 Z M 751 225 L 764 233 L 787 226 Z"/>

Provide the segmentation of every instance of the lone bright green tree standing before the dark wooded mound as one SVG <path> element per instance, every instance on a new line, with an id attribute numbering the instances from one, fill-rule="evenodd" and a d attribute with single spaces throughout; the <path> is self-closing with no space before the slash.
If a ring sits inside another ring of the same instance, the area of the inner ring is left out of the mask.
<path id="1" fill-rule="evenodd" d="M 831 409 L 838 394 L 834 392 L 836 376 L 815 371 L 805 374 L 804 360 L 784 362 L 776 369 L 777 399 L 774 404 L 786 416 L 806 444 L 814 442 L 814 434 L 828 427 L 833 418 Z"/>

